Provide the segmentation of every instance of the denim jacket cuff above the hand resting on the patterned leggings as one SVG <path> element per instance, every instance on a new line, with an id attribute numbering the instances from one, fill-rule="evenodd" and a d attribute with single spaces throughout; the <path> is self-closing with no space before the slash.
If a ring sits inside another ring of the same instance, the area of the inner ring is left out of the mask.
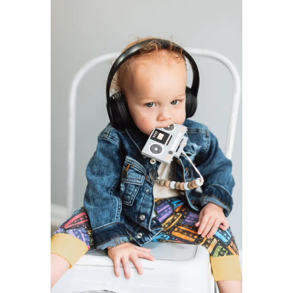
<path id="1" fill-rule="evenodd" d="M 223 208 L 225 217 L 228 217 L 233 206 L 233 199 L 230 193 L 220 185 L 209 185 L 204 195 L 200 198 L 200 203 L 205 206 L 208 202 Z"/>

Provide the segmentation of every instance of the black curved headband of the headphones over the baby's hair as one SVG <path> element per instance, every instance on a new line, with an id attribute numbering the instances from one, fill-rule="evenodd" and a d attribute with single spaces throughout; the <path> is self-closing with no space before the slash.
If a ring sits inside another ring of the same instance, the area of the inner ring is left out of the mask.
<path id="1" fill-rule="evenodd" d="M 109 75 L 108 75 L 108 80 L 107 80 L 107 86 L 106 86 L 106 97 L 107 97 L 107 103 L 110 103 L 110 86 L 112 79 L 119 69 L 119 67 L 130 57 L 137 55 L 140 53 L 140 49 L 145 43 L 150 43 L 150 42 L 157 42 L 161 45 L 162 49 L 168 49 L 170 47 L 171 41 L 168 40 L 163 40 L 163 39 L 149 39 L 149 40 L 144 40 L 142 42 L 139 42 L 137 44 L 134 44 L 133 46 L 127 48 L 124 52 L 120 54 L 120 56 L 116 59 L 114 62 L 113 66 L 110 69 Z M 191 86 L 191 91 L 195 97 L 197 97 L 197 92 L 199 88 L 199 73 L 197 69 L 197 65 L 194 61 L 194 59 L 190 56 L 188 52 L 186 52 L 182 47 L 179 45 L 175 44 L 172 42 L 172 47 L 174 52 L 181 52 L 182 54 L 188 59 L 190 62 L 191 68 L 193 70 L 193 81 L 192 81 L 192 86 Z"/>

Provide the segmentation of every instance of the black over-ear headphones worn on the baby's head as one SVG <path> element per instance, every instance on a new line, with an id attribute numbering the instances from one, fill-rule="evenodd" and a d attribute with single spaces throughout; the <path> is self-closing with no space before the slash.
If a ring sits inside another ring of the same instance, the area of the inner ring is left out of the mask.
<path id="1" fill-rule="evenodd" d="M 142 45 L 147 42 L 158 42 L 161 44 L 162 49 L 168 49 L 170 46 L 170 41 L 162 39 L 149 39 L 139 42 L 127 50 L 125 50 L 114 62 L 113 66 L 110 69 L 107 86 L 106 86 L 106 96 L 107 96 L 107 111 L 110 118 L 111 125 L 118 129 L 124 129 L 127 126 L 131 126 L 133 123 L 132 117 L 129 113 L 126 99 L 121 92 L 115 93 L 110 97 L 110 86 L 112 79 L 119 69 L 119 67 L 130 57 L 140 53 Z M 183 48 L 173 43 L 174 52 L 183 52 L 183 55 L 188 59 L 193 70 L 193 82 L 191 88 L 186 86 L 186 118 L 192 117 L 197 108 L 197 92 L 200 83 L 200 77 L 197 69 L 197 65 L 193 58 L 186 52 Z"/>

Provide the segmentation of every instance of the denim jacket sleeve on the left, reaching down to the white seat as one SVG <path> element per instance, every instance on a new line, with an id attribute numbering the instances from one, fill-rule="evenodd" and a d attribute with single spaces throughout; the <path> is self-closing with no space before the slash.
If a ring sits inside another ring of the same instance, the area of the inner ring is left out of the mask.
<path id="1" fill-rule="evenodd" d="M 115 135 L 98 137 L 97 149 L 86 168 L 88 181 L 84 207 L 88 214 L 94 243 L 105 249 L 129 242 L 119 197 L 122 154 Z"/>

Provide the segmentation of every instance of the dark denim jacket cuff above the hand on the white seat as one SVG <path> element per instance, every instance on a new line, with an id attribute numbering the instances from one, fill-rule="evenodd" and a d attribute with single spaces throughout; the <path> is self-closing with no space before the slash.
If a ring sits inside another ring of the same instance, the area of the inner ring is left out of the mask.
<path id="1" fill-rule="evenodd" d="M 93 238 L 98 249 L 105 249 L 130 241 L 125 224 L 122 222 L 113 222 L 93 229 Z"/>

